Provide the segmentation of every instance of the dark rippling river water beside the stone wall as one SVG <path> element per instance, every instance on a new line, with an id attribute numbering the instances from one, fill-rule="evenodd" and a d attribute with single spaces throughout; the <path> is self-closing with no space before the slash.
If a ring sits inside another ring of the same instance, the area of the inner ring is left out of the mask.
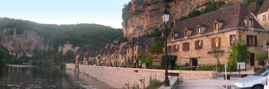
<path id="1" fill-rule="evenodd" d="M 0 68 L 0 89 L 109 89 L 83 73 L 52 67 L 6 65 Z"/>

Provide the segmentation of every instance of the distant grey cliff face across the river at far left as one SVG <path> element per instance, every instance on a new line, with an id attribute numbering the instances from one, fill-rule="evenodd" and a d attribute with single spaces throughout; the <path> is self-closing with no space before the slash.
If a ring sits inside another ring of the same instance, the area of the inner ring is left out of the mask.
<path id="1" fill-rule="evenodd" d="M 14 56 L 22 56 L 23 53 L 26 56 L 31 57 L 34 49 L 41 50 L 53 50 L 50 42 L 44 44 L 43 38 L 36 32 L 31 30 L 24 30 L 22 34 L 16 34 L 16 28 L 8 28 L 0 31 L 0 45 L 7 47 L 10 52 L 13 52 Z"/>

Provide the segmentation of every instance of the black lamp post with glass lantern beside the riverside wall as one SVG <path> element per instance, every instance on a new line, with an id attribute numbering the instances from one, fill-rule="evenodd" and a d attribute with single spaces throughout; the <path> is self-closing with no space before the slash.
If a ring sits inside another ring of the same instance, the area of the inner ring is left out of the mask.
<path id="1" fill-rule="evenodd" d="M 170 18 L 170 13 L 167 11 L 167 9 L 164 9 L 162 17 L 163 17 L 163 23 L 165 25 L 165 35 L 164 35 L 165 36 L 165 73 L 164 73 L 165 77 L 164 77 L 163 83 L 164 83 L 164 86 L 170 86 L 170 81 L 168 79 L 168 71 L 167 71 L 168 64 L 167 64 L 167 34 L 166 34 L 166 29 L 167 29 L 167 24 Z"/>

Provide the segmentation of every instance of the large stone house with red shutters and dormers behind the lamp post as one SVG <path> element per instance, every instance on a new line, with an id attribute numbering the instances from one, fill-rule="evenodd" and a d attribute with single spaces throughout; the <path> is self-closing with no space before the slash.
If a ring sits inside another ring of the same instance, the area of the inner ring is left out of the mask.
<path id="1" fill-rule="evenodd" d="M 239 34 L 239 32 L 241 34 Z M 212 47 L 221 47 L 224 55 L 221 64 L 227 63 L 231 47 L 239 42 L 239 35 L 249 46 L 250 66 L 258 65 L 256 57 L 267 55 L 268 30 L 242 4 L 232 5 L 183 21 L 175 21 L 175 26 L 167 37 L 168 55 L 177 55 L 177 60 L 169 61 L 169 68 L 175 64 L 190 66 L 216 64 L 210 55 Z M 182 58 L 181 58 L 182 57 Z M 208 57 L 208 58 L 204 58 Z"/>

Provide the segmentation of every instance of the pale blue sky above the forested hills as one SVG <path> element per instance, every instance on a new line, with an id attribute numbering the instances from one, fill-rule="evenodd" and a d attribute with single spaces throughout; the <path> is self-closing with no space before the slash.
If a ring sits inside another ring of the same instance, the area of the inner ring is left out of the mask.
<path id="1" fill-rule="evenodd" d="M 122 28 L 123 5 L 131 0 L 1 0 L 0 17 L 46 24 L 95 23 Z"/>

